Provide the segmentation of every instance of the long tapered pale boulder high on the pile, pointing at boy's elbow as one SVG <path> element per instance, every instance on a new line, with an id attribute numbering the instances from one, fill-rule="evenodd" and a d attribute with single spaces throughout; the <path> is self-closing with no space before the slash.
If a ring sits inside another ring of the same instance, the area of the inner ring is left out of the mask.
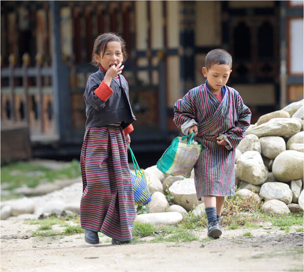
<path id="1" fill-rule="evenodd" d="M 301 130 L 301 124 L 295 118 L 273 118 L 250 131 L 258 137 L 264 136 L 288 136 Z M 248 133 L 247 133 L 248 134 Z"/>

